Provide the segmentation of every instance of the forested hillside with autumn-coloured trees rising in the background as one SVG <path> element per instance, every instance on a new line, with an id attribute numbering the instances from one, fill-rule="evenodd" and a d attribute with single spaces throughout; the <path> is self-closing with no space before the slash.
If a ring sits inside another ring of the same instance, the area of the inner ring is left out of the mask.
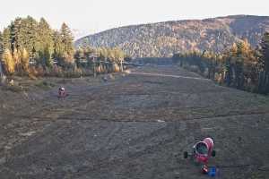
<path id="1" fill-rule="evenodd" d="M 190 50 L 221 52 L 239 38 L 256 47 L 269 17 L 237 15 L 205 20 L 165 21 L 106 30 L 75 42 L 76 47 L 120 47 L 133 57 L 171 56 Z"/>

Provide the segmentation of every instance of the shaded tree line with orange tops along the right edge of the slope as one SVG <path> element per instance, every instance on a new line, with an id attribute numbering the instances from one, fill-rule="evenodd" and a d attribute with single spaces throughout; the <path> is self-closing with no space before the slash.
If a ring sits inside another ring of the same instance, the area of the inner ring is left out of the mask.
<path id="1" fill-rule="evenodd" d="M 192 51 L 173 55 L 181 66 L 229 87 L 269 93 L 269 33 L 254 48 L 239 40 L 222 53 Z"/>

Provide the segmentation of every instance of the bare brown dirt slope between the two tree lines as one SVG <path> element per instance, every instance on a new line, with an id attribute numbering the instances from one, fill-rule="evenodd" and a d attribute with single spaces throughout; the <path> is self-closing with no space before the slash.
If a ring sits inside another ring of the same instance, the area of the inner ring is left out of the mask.
<path id="1" fill-rule="evenodd" d="M 207 136 L 218 178 L 269 177 L 268 98 L 170 65 L 114 77 L 0 88 L 0 178 L 207 178 L 182 157 Z"/>

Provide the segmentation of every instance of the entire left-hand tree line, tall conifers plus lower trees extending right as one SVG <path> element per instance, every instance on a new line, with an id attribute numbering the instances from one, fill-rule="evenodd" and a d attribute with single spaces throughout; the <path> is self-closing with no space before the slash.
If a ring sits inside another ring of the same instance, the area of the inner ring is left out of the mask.
<path id="1" fill-rule="evenodd" d="M 92 60 L 99 63 L 96 69 L 104 72 L 100 69 L 102 61 L 115 64 L 115 67 L 125 58 L 119 48 L 80 47 L 75 50 L 73 41 L 72 31 L 65 22 L 60 30 L 53 30 L 44 18 L 36 21 L 30 16 L 18 17 L 0 31 L 0 62 L 4 73 L 53 76 L 72 72 L 83 75 L 91 71 Z M 88 69 L 80 69 L 82 67 Z M 111 66 L 108 68 L 110 70 Z"/>

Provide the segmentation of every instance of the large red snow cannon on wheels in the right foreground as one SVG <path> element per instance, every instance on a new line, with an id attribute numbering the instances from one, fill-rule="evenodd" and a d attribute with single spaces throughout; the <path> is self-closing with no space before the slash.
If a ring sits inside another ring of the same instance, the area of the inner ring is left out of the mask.
<path id="1" fill-rule="evenodd" d="M 210 157 L 215 157 L 216 152 L 213 150 L 214 141 L 212 138 L 205 138 L 203 141 L 198 141 L 193 147 L 193 152 L 191 155 L 184 152 L 184 158 L 192 156 L 195 162 L 206 165 Z"/>

